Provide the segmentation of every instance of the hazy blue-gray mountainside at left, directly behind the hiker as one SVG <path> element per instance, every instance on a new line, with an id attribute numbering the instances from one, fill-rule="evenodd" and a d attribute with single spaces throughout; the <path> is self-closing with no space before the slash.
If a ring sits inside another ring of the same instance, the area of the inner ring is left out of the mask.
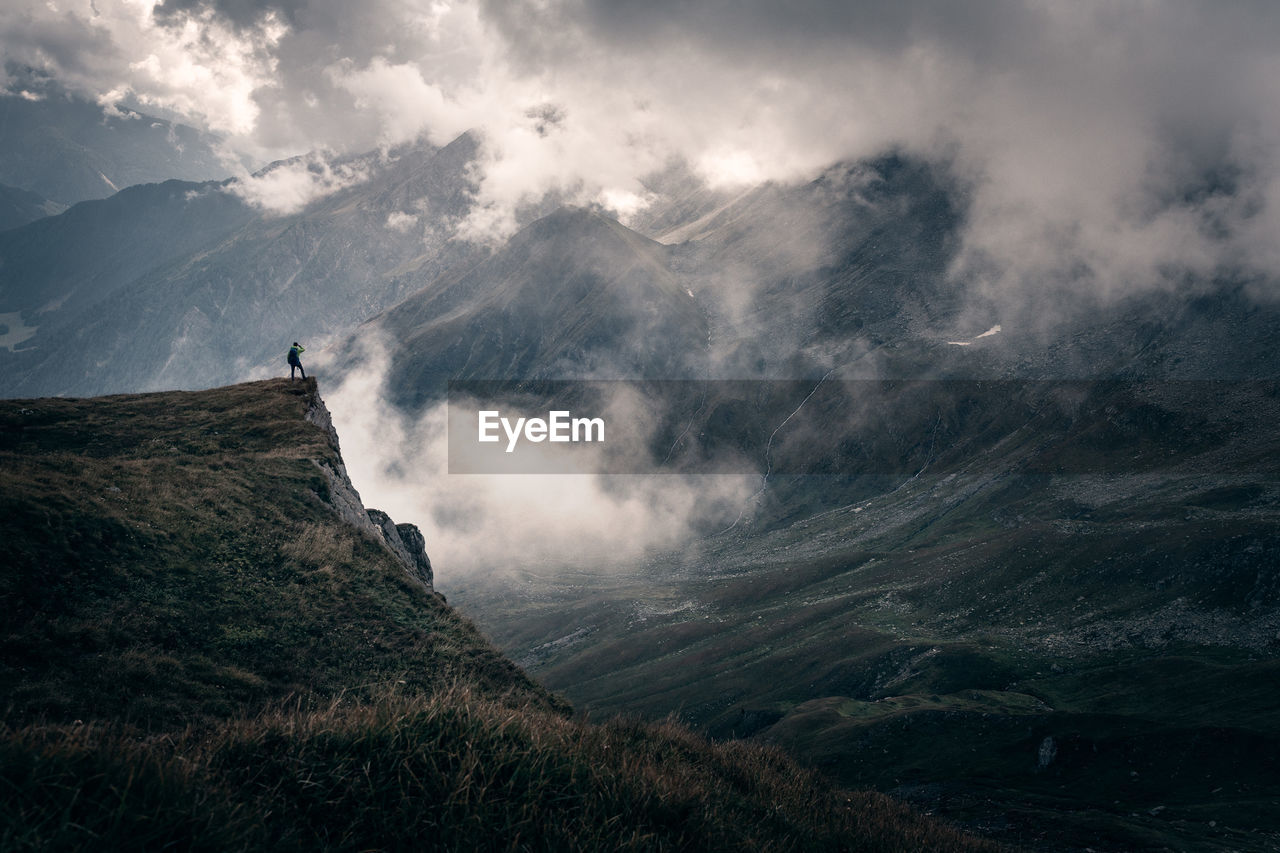
<path id="1" fill-rule="evenodd" d="M 346 332 L 480 251 L 449 227 L 470 204 L 474 152 L 463 136 L 374 156 L 367 181 L 291 215 L 229 184 L 165 182 L 0 234 L 0 310 L 23 329 L 0 350 L 0 393 L 274 373 L 291 341 Z"/>

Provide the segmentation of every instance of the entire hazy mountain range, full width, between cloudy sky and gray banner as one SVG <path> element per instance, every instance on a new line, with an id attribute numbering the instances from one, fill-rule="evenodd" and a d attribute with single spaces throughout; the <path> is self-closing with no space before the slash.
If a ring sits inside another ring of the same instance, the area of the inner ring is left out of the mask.
<path id="1" fill-rule="evenodd" d="M 947 274 L 963 195 L 899 156 L 672 190 L 648 236 L 563 209 L 490 250 L 453 231 L 475 152 L 465 134 L 356 159 L 367 179 L 288 215 L 165 182 L 0 232 L 0 393 L 230 382 L 302 338 L 349 366 L 374 334 L 411 409 L 448 378 L 1256 378 L 1280 356 L 1275 305 L 1229 280 L 1105 314 L 970 292 Z"/>

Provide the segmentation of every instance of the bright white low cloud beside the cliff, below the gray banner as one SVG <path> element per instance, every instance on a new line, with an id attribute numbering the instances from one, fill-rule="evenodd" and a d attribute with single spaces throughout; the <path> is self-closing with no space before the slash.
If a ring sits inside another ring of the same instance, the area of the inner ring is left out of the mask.
<path id="1" fill-rule="evenodd" d="M 419 416 L 393 409 L 384 351 L 376 341 L 364 346 L 364 366 L 325 389 L 343 459 L 366 503 L 422 529 L 442 588 L 471 573 L 607 566 L 676 548 L 710 525 L 733 523 L 758 488 L 751 475 L 605 478 L 581 455 L 573 462 L 581 474 L 451 475 L 447 403 Z M 614 401 L 609 423 L 628 426 L 617 420 L 628 411 L 639 419 L 630 406 Z M 639 420 L 630 428 L 623 432 L 644 433 Z"/>

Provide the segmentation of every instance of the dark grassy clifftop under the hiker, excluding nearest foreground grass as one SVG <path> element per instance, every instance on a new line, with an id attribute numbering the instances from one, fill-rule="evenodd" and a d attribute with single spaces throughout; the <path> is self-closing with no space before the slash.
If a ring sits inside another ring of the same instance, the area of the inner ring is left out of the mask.
<path id="1" fill-rule="evenodd" d="M 300 692 L 465 680 L 558 701 L 342 524 L 314 382 L 0 401 L 0 694 L 172 727 Z"/>

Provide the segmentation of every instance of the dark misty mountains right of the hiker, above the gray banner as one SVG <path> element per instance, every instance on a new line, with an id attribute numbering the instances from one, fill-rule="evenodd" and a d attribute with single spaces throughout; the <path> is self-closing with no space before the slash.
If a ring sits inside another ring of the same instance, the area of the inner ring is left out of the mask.
<path id="1" fill-rule="evenodd" d="M 389 342 L 394 402 L 410 410 L 448 379 L 1266 379 L 1280 368 L 1280 304 L 1257 282 L 1135 288 L 1103 306 L 1087 292 L 1002 302 L 954 279 L 964 195 L 920 163 L 841 164 L 717 201 L 655 204 L 637 225 L 658 241 L 598 211 L 556 211 L 344 348 Z M 786 406 L 764 407 L 760 428 Z"/>

